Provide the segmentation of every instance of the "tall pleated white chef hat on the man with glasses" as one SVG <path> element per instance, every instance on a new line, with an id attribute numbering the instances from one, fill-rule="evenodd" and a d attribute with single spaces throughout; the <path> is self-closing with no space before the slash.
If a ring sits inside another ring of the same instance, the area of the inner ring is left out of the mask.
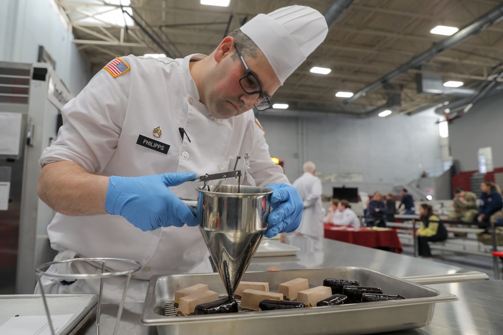
<path id="1" fill-rule="evenodd" d="M 323 42 L 328 32 L 325 18 L 305 6 L 289 6 L 259 14 L 241 27 L 262 50 L 283 82 Z"/>

